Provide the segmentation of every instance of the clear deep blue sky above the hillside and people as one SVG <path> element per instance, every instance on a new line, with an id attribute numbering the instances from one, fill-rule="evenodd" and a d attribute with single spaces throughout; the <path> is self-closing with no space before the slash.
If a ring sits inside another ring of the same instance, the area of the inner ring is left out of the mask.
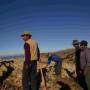
<path id="1" fill-rule="evenodd" d="M 23 31 L 41 52 L 70 48 L 73 39 L 90 43 L 90 0 L 0 0 L 0 54 L 21 53 Z"/>

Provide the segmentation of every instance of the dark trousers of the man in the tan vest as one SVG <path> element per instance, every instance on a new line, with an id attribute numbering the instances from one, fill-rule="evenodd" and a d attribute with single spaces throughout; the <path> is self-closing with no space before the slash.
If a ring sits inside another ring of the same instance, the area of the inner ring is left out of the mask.
<path id="1" fill-rule="evenodd" d="M 24 64 L 22 84 L 23 90 L 37 90 L 37 60 Z"/>

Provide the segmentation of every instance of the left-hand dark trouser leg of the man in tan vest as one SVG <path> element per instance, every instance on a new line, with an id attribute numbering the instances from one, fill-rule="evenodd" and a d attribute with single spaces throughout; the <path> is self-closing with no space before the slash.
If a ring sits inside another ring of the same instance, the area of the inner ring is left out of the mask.
<path id="1" fill-rule="evenodd" d="M 22 85 L 23 85 L 23 90 L 30 90 L 28 69 L 25 67 L 25 65 L 23 66 Z"/>

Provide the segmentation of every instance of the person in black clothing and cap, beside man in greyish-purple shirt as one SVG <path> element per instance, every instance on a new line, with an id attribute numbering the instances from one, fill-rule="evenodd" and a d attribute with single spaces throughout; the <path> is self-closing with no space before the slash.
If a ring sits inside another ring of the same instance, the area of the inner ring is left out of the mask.
<path id="1" fill-rule="evenodd" d="M 81 67 L 81 63 L 80 63 L 81 49 L 79 46 L 79 41 L 73 40 L 73 46 L 75 47 L 75 63 L 76 63 L 76 74 L 77 74 L 76 81 L 81 87 L 83 87 L 84 90 L 87 90 L 87 84 L 85 81 L 85 77 L 84 75 L 80 73 L 81 71 L 81 68 L 80 68 Z"/>

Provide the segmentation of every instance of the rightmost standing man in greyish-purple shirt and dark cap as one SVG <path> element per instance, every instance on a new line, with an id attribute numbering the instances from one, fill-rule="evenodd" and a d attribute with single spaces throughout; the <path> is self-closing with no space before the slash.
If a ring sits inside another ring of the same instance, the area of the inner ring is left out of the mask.
<path id="1" fill-rule="evenodd" d="M 80 62 L 81 62 L 81 74 L 85 77 L 87 87 L 85 90 L 90 90 L 90 49 L 87 47 L 88 42 L 82 40 L 80 42 L 81 48 L 81 55 L 80 55 Z"/>

